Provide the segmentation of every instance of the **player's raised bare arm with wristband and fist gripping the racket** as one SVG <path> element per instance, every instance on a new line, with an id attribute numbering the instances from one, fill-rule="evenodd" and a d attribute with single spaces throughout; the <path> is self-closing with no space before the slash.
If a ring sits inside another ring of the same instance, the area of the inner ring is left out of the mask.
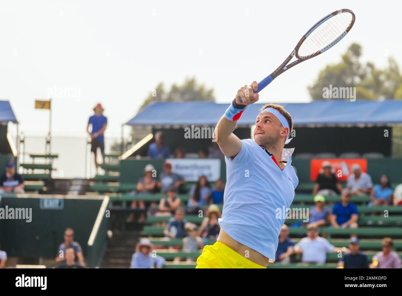
<path id="1" fill-rule="evenodd" d="M 240 119 L 244 110 L 249 105 L 258 101 L 258 83 L 254 81 L 251 85 L 244 85 L 237 91 L 236 98 L 232 101 L 224 116 L 219 119 L 213 133 L 222 153 L 227 157 L 235 157 L 242 148 L 240 139 L 233 134 L 237 120 Z"/>

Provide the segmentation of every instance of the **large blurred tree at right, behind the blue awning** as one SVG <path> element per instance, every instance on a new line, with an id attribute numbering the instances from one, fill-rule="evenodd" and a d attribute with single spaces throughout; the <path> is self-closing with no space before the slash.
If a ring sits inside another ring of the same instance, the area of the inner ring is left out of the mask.
<path id="1" fill-rule="evenodd" d="M 332 89 L 356 87 L 355 98 L 361 100 L 402 99 L 402 76 L 394 58 L 388 59 L 388 67 L 378 69 L 372 62 L 359 61 L 361 51 L 361 46 L 353 43 L 341 62 L 321 70 L 314 84 L 308 86 L 312 99 L 330 99 L 323 96 L 330 85 Z"/>

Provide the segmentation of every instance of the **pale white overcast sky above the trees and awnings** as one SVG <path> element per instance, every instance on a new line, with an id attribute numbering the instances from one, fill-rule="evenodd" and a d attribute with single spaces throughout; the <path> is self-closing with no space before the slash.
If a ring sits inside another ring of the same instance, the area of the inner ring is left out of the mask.
<path id="1" fill-rule="evenodd" d="M 160 82 L 168 87 L 195 77 L 214 89 L 218 103 L 229 103 L 239 87 L 273 72 L 314 23 L 341 8 L 356 14 L 351 32 L 275 79 L 260 103 L 310 101 L 307 86 L 352 42 L 362 45 L 362 61 L 384 67 L 393 56 L 402 65 L 402 5 L 395 1 L 0 3 L 0 99 L 10 100 L 25 135 L 48 132 L 48 110 L 35 110 L 34 101 L 50 96 L 53 135 L 72 137 L 85 136 L 98 102 L 107 135 L 119 137 Z"/>

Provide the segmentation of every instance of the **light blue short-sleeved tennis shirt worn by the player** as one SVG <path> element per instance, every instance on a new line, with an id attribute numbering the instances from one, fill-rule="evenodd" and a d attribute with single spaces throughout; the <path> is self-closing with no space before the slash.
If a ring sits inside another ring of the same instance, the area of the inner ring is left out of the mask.
<path id="1" fill-rule="evenodd" d="M 256 250 L 273 262 L 278 236 L 299 180 L 289 157 L 281 170 L 271 156 L 251 139 L 233 160 L 226 160 L 224 207 L 219 225 L 234 240 Z M 244 254 L 241 254 L 244 255 Z"/>

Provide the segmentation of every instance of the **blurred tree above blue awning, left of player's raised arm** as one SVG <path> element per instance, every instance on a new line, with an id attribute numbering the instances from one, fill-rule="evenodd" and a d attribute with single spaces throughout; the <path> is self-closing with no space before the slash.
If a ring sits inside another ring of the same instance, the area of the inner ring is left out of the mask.
<path id="1" fill-rule="evenodd" d="M 172 85 L 167 93 L 163 83 L 159 83 L 145 99 L 140 110 L 152 102 L 188 102 L 188 101 L 215 101 L 213 89 L 206 89 L 205 85 L 197 85 L 195 78 L 187 78 L 183 85 Z"/>

